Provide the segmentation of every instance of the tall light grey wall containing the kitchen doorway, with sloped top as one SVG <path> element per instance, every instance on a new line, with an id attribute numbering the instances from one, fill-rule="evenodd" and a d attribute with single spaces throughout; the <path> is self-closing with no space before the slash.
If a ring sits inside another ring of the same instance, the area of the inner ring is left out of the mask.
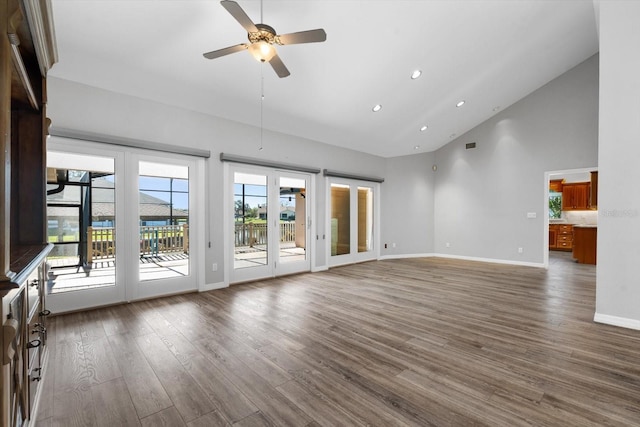
<path id="1" fill-rule="evenodd" d="M 597 150 L 595 55 L 436 151 L 435 252 L 542 265 L 545 171 L 598 166 Z"/>

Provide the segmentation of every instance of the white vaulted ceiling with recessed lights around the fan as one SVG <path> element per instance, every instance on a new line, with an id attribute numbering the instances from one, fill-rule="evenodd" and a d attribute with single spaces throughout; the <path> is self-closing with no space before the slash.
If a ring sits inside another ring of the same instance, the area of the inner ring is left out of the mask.
<path id="1" fill-rule="evenodd" d="M 260 22 L 259 1 L 238 3 Z M 247 41 L 219 1 L 53 10 L 52 76 L 259 126 L 262 75 L 265 129 L 383 157 L 433 151 L 598 51 L 592 0 L 264 0 L 279 34 L 327 33 L 279 46 L 280 79 L 247 51 L 203 58 Z"/>

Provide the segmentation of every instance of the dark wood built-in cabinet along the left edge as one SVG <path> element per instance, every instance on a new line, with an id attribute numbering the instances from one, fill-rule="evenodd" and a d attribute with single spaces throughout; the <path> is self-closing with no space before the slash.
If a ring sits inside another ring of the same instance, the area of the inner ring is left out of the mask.
<path id="1" fill-rule="evenodd" d="M 0 425 L 30 424 L 46 351 L 50 0 L 0 1 Z"/>

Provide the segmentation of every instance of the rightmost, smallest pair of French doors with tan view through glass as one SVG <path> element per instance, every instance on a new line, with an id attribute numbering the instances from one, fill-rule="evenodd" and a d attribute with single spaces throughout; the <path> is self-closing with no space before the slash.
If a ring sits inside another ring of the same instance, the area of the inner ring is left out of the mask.
<path id="1" fill-rule="evenodd" d="M 327 179 L 329 266 L 377 259 L 379 184 Z"/>

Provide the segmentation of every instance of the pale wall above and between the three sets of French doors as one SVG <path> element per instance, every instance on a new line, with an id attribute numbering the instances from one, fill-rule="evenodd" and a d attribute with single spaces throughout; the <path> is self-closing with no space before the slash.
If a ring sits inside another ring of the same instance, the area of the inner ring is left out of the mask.
<path id="1" fill-rule="evenodd" d="M 205 240 L 211 242 L 211 248 L 206 249 L 205 266 L 217 263 L 219 269 L 205 268 L 206 284 L 222 283 L 224 278 L 221 152 L 368 176 L 379 176 L 385 170 L 381 157 L 269 131 L 264 132 L 264 149 L 260 151 L 256 127 L 57 78 L 49 78 L 47 86 L 47 112 L 54 127 L 211 150 L 205 184 Z M 316 226 L 322 236 L 327 234 L 322 176 L 316 184 Z M 324 266 L 324 242 L 313 240 L 316 265 Z"/>

